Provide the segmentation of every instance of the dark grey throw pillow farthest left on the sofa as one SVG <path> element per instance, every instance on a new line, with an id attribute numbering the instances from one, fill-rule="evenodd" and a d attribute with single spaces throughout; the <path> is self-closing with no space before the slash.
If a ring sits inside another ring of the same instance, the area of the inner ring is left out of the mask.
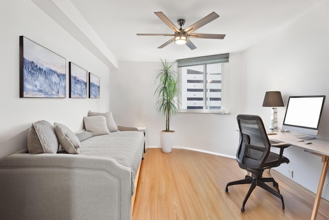
<path id="1" fill-rule="evenodd" d="M 27 149 L 31 154 L 56 154 L 59 143 L 53 126 L 48 121 L 32 123 L 27 135 Z"/>

